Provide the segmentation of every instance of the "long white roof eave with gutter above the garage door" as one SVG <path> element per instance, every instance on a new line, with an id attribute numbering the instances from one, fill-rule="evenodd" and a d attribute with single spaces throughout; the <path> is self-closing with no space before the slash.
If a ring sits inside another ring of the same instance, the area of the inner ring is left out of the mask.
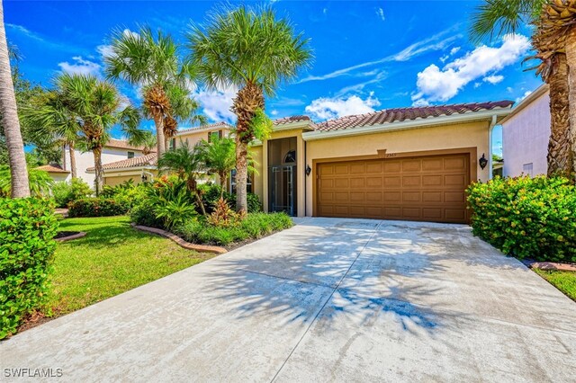
<path id="1" fill-rule="evenodd" d="M 404 120 L 392 123 L 370 125 L 359 128 L 315 130 L 302 133 L 304 141 L 318 139 L 339 138 L 347 136 L 361 136 L 365 134 L 385 133 L 395 130 L 422 129 L 438 125 L 456 124 L 460 122 L 473 122 L 476 120 L 490 120 L 492 116 L 503 117 L 510 113 L 510 108 L 499 108 L 490 111 L 472 111 L 450 116 L 429 117 L 428 119 Z"/>

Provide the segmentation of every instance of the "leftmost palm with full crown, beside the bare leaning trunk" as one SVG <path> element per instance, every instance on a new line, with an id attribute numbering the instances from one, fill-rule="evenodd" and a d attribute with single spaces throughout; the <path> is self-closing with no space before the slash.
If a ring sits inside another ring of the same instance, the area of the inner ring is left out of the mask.
<path id="1" fill-rule="evenodd" d="M 75 112 L 67 107 L 58 92 L 51 91 L 31 97 L 20 114 L 34 142 L 45 146 L 64 144 L 68 147 L 70 174 L 76 178 L 76 142 L 80 139 L 78 132 L 81 126 Z"/>

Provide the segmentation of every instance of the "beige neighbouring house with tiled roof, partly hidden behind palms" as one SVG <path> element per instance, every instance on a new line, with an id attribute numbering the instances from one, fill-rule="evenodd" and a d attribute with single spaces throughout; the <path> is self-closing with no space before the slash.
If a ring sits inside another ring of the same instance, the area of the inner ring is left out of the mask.
<path id="1" fill-rule="evenodd" d="M 197 145 L 202 139 L 210 141 L 212 137 L 228 137 L 232 127 L 226 122 L 203 125 L 197 128 L 179 130 L 175 138 L 170 141 L 170 147 L 187 143 L 189 147 Z M 157 155 L 135 156 L 131 159 L 122 159 L 104 163 L 104 184 L 118 185 L 130 179 L 134 183 L 150 182 L 157 177 Z M 87 173 L 94 178 L 94 163 L 87 168 Z"/>

